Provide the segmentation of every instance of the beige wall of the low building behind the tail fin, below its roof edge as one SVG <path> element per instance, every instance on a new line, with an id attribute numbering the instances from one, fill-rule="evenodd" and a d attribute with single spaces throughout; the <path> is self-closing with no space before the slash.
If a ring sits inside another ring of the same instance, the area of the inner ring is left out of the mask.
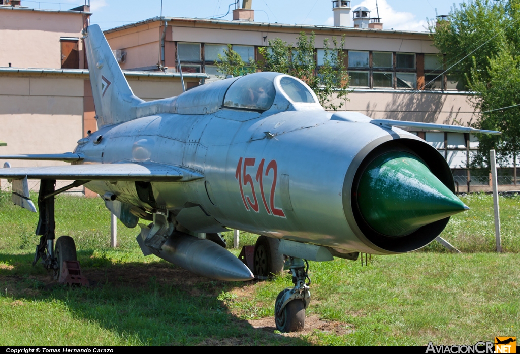
<path id="1" fill-rule="evenodd" d="M 127 76 L 134 94 L 145 100 L 182 93 L 180 78 Z M 185 78 L 186 84 L 198 82 Z M 87 74 L 0 73 L 1 154 L 73 151 L 87 130 L 97 130 L 94 100 Z M 0 167 L 5 160 L 0 160 Z M 56 161 L 10 160 L 12 167 L 66 165 Z M 63 187 L 69 181 L 58 182 Z M 1 180 L 7 188 L 6 180 Z M 30 187 L 38 190 L 39 182 Z M 74 189 L 82 191 L 83 187 Z"/>

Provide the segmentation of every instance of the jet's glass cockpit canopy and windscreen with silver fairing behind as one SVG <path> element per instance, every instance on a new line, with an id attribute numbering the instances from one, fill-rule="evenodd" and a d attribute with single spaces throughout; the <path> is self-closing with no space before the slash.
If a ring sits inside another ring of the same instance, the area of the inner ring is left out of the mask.
<path id="1" fill-rule="evenodd" d="M 316 95 L 305 83 L 276 72 L 259 72 L 201 85 L 176 97 L 172 103 L 174 113 L 178 114 L 207 114 L 222 108 L 273 113 L 321 108 Z"/>

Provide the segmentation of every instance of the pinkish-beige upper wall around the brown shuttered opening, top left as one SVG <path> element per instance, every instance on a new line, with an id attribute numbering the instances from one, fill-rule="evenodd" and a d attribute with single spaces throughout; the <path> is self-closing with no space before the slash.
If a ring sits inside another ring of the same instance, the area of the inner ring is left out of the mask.
<path id="1" fill-rule="evenodd" d="M 77 37 L 84 55 L 83 15 L 0 8 L 0 67 L 61 68 L 60 37 Z"/>

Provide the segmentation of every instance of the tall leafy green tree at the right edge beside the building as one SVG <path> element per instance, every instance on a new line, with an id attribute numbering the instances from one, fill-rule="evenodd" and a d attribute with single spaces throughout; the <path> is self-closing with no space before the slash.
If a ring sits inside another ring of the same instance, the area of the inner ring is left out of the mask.
<path id="1" fill-rule="evenodd" d="M 447 21 L 430 23 L 433 44 L 446 54 L 449 74 L 474 91 L 481 113 L 473 127 L 500 130 L 478 135 L 474 168 L 489 168 L 489 150 L 501 165 L 520 149 L 520 0 L 470 0 L 453 7 Z M 465 57 L 465 58 L 464 58 Z M 509 108 L 506 108 L 509 107 Z"/>

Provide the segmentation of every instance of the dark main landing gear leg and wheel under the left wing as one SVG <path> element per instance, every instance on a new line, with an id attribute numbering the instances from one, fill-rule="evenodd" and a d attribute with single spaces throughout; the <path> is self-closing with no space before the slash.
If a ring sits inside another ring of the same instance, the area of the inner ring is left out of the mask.
<path id="1" fill-rule="evenodd" d="M 36 234 L 40 235 L 40 244 L 36 246 L 34 254 L 33 266 L 36 265 L 38 259 L 42 259 L 41 263 L 49 272 L 53 273 L 55 280 L 60 280 L 60 275 L 64 273 L 64 267 L 68 267 L 68 261 L 75 261 L 77 263 L 76 245 L 70 236 L 62 236 L 55 240 L 56 222 L 54 218 L 54 196 L 63 191 L 73 187 L 81 186 L 83 181 L 75 181 L 69 186 L 54 190 L 56 180 L 43 179 L 40 183 L 40 193 L 38 194 L 38 209 L 40 209 L 40 218 L 38 219 L 38 226 L 36 227 Z M 79 263 L 77 264 L 79 273 Z M 72 274 L 72 268 L 65 272 Z M 80 279 L 80 277 L 69 277 L 68 283 L 71 283 L 70 278 Z M 77 281 L 82 283 L 84 280 Z M 75 281 L 72 281 L 75 283 Z"/>

